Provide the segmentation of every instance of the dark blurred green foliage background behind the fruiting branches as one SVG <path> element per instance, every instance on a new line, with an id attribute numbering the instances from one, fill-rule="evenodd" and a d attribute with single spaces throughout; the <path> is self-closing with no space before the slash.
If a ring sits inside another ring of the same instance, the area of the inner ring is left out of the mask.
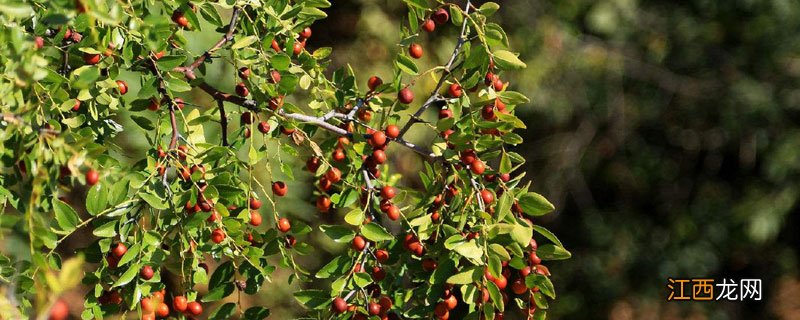
<path id="1" fill-rule="evenodd" d="M 528 163 L 517 173 L 556 204 L 556 213 L 535 222 L 573 253 L 548 264 L 559 294 L 550 316 L 800 319 L 800 3 L 500 4 L 494 18 L 528 64 L 502 76 L 532 97 L 517 109 L 528 125 L 525 144 L 515 150 Z M 333 47 L 333 67 L 350 64 L 360 85 L 372 74 L 388 78 L 392 55 L 401 50 L 404 4 L 336 0 L 326 12 L 307 48 Z M 443 63 L 456 34 L 450 26 L 422 35 L 421 69 Z M 219 37 L 192 36 L 189 49 L 197 54 Z M 209 70 L 232 91 L 230 65 L 217 61 Z M 428 79 L 416 88 L 433 85 Z M 191 99 L 213 105 L 201 92 Z M 147 142 L 135 133 L 122 139 L 141 147 L 123 156 L 141 158 Z M 390 155 L 406 183 L 414 183 L 419 159 Z M 270 180 L 266 170 L 259 178 Z M 315 224 L 341 221 L 319 217 L 311 183 L 298 173 L 290 188 L 307 190 L 293 193 L 301 201 L 284 201 L 281 210 Z M 342 249 L 324 240 L 318 232 L 308 239 L 318 252 L 300 260 L 307 269 Z M 303 313 L 291 296 L 297 285 L 286 286 L 286 276 L 279 269 L 257 299 L 275 319 Z M 668 277 L 762 279 L 764 298 L 667 302 Z"/>

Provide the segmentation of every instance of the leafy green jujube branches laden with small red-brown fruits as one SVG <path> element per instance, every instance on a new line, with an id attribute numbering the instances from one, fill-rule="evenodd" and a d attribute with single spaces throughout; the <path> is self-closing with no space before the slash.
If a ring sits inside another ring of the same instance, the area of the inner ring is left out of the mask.
<path id="1" fill-rule="evenodd" d="M 295 298 L 318 319 L 544 318 L 555 292 L 542 261 L 570 253 L 531 220 L 552 204 L 512 176 L 524 164 L 514 111 L 528 99 L 500 76 L 525 64 L 489 22 L 497 4 L 406 3 L 391 81 L 326 74 L 332 50 L 306 49 L 326 0 L 0 6 L 0 234 L 24 234 L 30 252 L 0 257 L 16 289 L 0 305 L 50 319 L 263 319 L 267 306 L 241 295 L 284 268 L 316 288 Z M 448 28 L 452 53 L 420 71 L 419 38 Z M 191 52 L 197 31 L 219 40 Z M 217 69 L 233 70 L 230 92 Z M 420 101 L 425 77 L 435 85 Z M 404 152 L 419 172 L 392 166 Z M 335 223 L 280 206 L 300 197 L 287 181 L 311 181 L 306 200 Z M 310 272 L 296 258 L 313 252 L 314 229 L 349 249 Z M 88 245 L 63 252 L 78 234 Z M 60 296 L 79 284 L 82 310 L 69 310 Z"/>

